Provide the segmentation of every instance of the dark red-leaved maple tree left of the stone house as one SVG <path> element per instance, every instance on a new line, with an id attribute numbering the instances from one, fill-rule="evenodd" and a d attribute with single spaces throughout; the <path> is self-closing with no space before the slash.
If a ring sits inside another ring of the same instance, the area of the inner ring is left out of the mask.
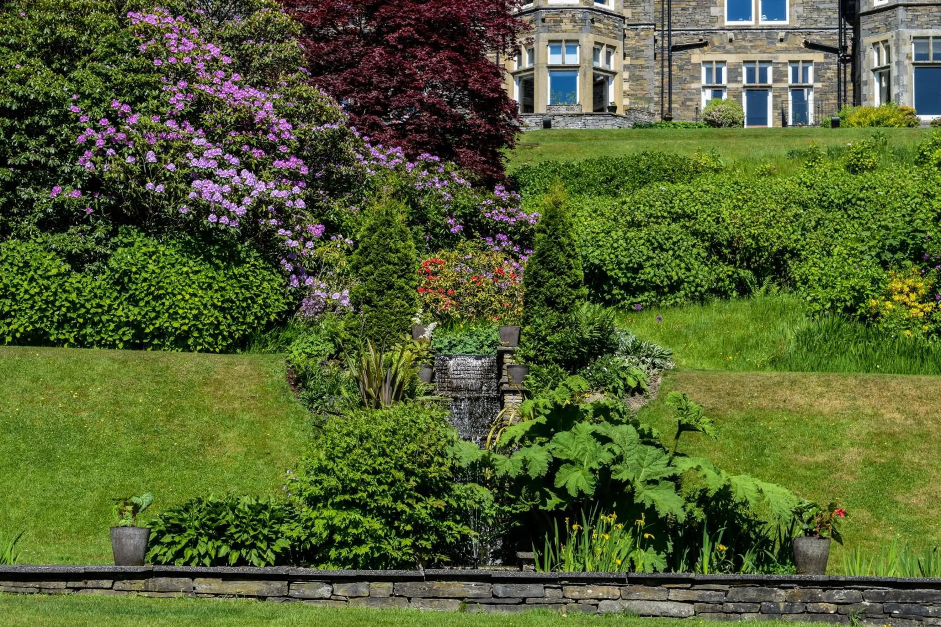
<path id="1" fill-rule="evenodd" d="M 304 26 L 312 83 L 374 144 L 502 177 L 518 128 L 502 59 L 527 29 L 518 0 L 281 2 Z"/>

